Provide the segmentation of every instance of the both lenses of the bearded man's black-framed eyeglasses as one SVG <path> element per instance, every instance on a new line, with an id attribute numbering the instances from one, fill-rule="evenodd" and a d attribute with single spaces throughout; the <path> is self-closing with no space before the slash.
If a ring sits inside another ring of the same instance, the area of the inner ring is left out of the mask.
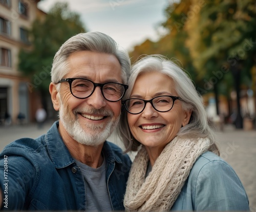
<path id="1" fill-rule="evenodd" d="M 71 84 L 71 92 L 77 98 L 86 98 L 94 91 L 94 84 L 88 80 L 76 79 Z M 101 87 L 102 95 L 110 100 L 119 100 L 123 93 L 124 87 L 117 83 L 106 83 Z"/>

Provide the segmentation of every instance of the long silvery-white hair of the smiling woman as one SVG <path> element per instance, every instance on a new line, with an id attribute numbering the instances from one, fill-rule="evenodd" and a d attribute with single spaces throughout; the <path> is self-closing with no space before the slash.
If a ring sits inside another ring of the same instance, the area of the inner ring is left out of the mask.
<path id="1" fill-rule="evenodd" d="M 177 136 L 190 139 L 208 137 L 212 145 L 215 145 L 217 148 L 214 131 L 208 124 L 203 99 L 185 71 L 175 62 L 161 55 L 150 55 L 138 60 L 132 66 L 128 81 L 129 89 L 126 91 L 123 99 L 130 98 L 135 81 L 141 73 L 158 72 L 169 76 L 174 81 L 178 96 L 182 98 L 183 110 L 192 111 L 189 123 L 180 128 Z M 118 135 L 124 143 L 126 152 L 137 150 L 140 143 L 132 137 L 127 122 L 127 112 L 124 107 L 122 107 Z"/>

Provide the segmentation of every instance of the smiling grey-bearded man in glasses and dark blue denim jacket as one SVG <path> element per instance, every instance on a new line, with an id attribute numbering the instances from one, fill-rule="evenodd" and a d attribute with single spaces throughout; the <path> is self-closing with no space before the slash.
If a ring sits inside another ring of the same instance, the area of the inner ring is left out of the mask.
<path id="1" fill-rule="evenodd" d="M 82 33 L 56 53 L 49 87 L 59 112 L 46 135 L 0 155 L 1 206 L 10 210 L 123 210 L 131 160 L 106 139 L 128 86 L 127 53 L 109 36 Z"/>

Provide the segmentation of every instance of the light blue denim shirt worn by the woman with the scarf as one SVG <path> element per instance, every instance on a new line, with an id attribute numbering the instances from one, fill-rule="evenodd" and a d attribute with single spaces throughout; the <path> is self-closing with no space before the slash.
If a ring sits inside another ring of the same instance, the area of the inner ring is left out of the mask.
<path id="1" fill-rule="evenodd" d="M 212 152 L 202 154 L 172 210 L 249 210 L 245 189 L 234 170 Z"/>

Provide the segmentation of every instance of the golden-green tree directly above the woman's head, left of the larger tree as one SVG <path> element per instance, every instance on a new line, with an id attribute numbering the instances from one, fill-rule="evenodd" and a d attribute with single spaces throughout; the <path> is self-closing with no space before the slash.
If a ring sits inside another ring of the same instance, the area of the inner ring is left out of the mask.
<path id="1" fill-rule="evenodd" d="M 197 82 L 189 49 L 185 46 L 185 41 L 188 37 L 185 31 L 186 14 L 190 5 L 190 0 L 169 4 L 164 10 L 166 20 L 160 24 L 166 31 L 165 35 L 161 36 L 157 42 L 146 40 L 142 44 L 135 46 L 134 50 L 130 52 L 132 62 L 137 60 L 140 55 L 161 54 L 176 61 L 178 65 L 188 72 L 191 79 Z"/>

